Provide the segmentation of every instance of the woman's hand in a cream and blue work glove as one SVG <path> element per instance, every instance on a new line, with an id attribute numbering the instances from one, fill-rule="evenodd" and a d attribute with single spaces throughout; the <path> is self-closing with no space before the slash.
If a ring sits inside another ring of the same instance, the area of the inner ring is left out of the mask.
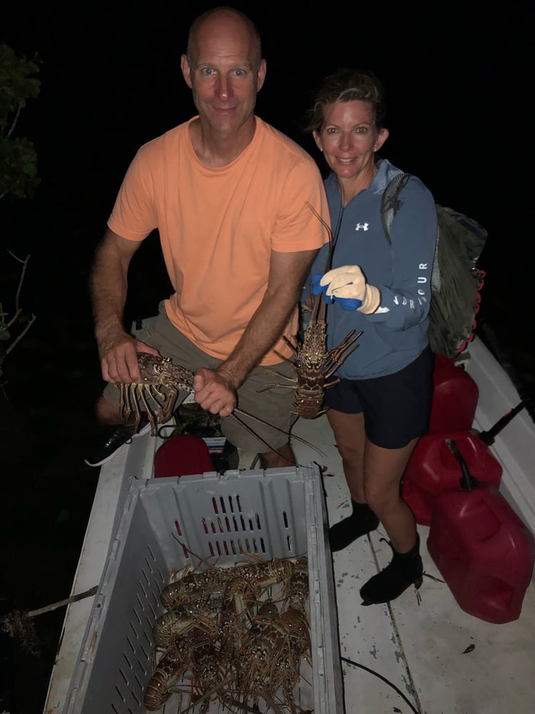
<path id="1" fill-rule="evenodd" d="M 381 303 L 379 288 L 366 282 L 360 266 L 334 268 L 325 273 L 319 282 L 315 276 L 314 282 L 316 294 L 325 290 L 325 301 L 327 298 L 330 298 L 330 302 L 335 300 L 345 310 L 358 310 L 371 315 Z"/>

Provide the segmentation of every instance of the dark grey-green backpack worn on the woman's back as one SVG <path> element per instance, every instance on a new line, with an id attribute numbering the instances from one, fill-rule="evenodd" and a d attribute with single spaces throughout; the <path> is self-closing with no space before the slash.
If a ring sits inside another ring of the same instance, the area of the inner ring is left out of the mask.
<path id="1" fill-rule="evenodd" d="M 389 228 L 402 208 L 399 193 L 410 174 L 397 174 L 384 189 L 381 218 L 392 244 Z M 437 251 L 431 275 L 429 343 L 432 351 L 446 357 L 459 355 L 474 339 L 476 315 L 481 303 L 485 271 L 476 263 L 487 232 L 464 213 L 437 204 Z"/>

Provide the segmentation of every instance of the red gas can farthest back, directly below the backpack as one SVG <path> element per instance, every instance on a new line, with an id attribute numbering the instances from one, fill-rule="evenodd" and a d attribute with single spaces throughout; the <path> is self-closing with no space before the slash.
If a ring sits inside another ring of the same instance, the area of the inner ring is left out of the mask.
<path id="1" fill-rule="evenodd" d="M 429 434 L 472 428 L 479 389 L 469 373 L 454 359 L 434 355 L 433 401 Z"/>

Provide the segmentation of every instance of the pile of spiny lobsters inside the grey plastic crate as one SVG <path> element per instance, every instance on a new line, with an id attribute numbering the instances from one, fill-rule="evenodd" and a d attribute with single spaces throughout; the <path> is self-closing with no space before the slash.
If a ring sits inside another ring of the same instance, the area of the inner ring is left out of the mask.
<path id="1" fill-rule="evenodd" d="M 310 713 L 294 697 L 303 661 L 311 665 L 308 594 L 306 557 L 249 555 L 228 568 L 183 570 L 161 591 L 146 709 L 176 694 L 179 712 L 203 714 L 218 700 L 232 713 L 260 712 L 260 703 L 275 714 Z"/>

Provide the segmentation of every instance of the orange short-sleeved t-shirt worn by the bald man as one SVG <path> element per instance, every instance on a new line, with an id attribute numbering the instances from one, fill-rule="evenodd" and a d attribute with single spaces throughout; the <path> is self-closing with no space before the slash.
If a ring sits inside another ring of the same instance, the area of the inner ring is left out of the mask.
<path id="1" fill-rule="evenodd" d="M 194 117 L 193 119 L 196 119 Z M 307 152 L 262 119 L 228 166 L 202 164 L 190 141 L 193 119 L 149 141 L 126 172 L 108 226 L 141 241 L 158 228 L 175 293 L 173 325 L 198 348 L 227 358 L 267 288 L 270 252 L 320 248 L 328 208 L 319 169 Z M 285 335 L 297 332 L 297 308 Z M 282 339 L 261 364 L 280 362 Z"/>

